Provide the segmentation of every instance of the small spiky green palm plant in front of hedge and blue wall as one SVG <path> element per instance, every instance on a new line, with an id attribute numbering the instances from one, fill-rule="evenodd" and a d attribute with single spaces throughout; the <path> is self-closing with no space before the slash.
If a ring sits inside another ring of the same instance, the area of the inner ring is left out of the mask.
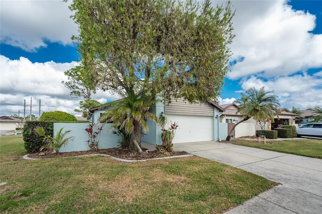
<path id="1" fill-rule="evenodd" d="M 62 146 L 66 146 L 68 144 L 69 140 L 74 140 L 74 137 L 68 137 L 65 138 L 65 136 L 70 133 L 70 130 L 67 130 L 65 132 L 62 132 L 63 128 L 61 128 L 54 137 L 51 137 L 49 135 L 45 134 L 45 130 L 42 127 L 36 128 L 36 133 L 40 136 L 44 137 L 43 142 L 46 143 L 44 146 L 40 148 L 40 151 L 48 150 L 49 152 L 56 152 L 56 154 L 59 154 L 59 149 Z"/>

